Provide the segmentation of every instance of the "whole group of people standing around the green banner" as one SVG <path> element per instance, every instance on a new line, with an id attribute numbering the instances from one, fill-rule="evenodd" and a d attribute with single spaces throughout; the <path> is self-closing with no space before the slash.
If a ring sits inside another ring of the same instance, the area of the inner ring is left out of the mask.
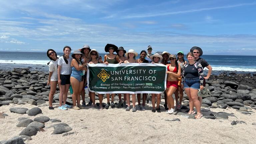
<path id="1" fill-rule="evenodd" d="M 203 115 L 201 113 L 201 104 L 202 98 L 198 97 L 198 91 L 204 88 L 205 79 L 208 79 L 211 75 L 212 68 L 211 66 L 203 59 L 203 51 L 200 47 L 192 47 L 190 52 L 187 53 L 186 57 L 188 62 L 184 60 L 184 52 L 179 51 L 177 57 L 175 54 L 170 54 L 166 51 L 162 53 L 152 54 L 152 47 L 147 47 L 147 52 L 142 50 L 140 52 L 139 59 L 135 59 L 138 56 L 138 53 L 133 49 L 128 51 L 124 50 L 123 47 L 117 47 L 114 44 L 107 44 L 105 46 L 106 54 L 102 60 L 96 49 L 90 49 L 90 46 L 84 45 L 82 49 L 74 50 L 74 53 L 70 55 L 71 48 L 65 46 L 63 48 L 63 56 L 58 57 L 57 53 L 53 49 L 48 49 L 47 56 L 50 58 L 49 63 L 49 80 L 47 85 L 50 84 L 51 90 L 49 94 L 49 109 L 54 109 L 52 107 L 53 95 L 55 94 L 57 84 L 60 88 L 59 95 L 59 109 L 67 110 L 72 106 L 66 104 L 68 89 L 72 87 L 72 101 L 73 109 L 79 110 L 84 109 L 85 106 L 96 107 L 95 104 L 95 93 L 89 92 L 90 97 L 89 103 L 85 104 L 85 87 L 87 87 L 87 66 L 86 64 L 98 64 L 104 63 L 108 64 L 118 64 L 118 63 L 158 63 L 164 64 L 167 67 L 167 82 L 166 90 L 164 91 L 165 104 L 164 107 L 167 110 L 166 113 L 172 114 L 175 112 L 175 109 L 181 109 L 182 99 L 183 99 L 183 89 L 187 96 L 189 97 L 189 107 L 190 110 L 188 114 L 195 114 L 194 107 L 196 108 L 197 114 L 195 118 L 201 118 Z M 116 54 L 114 53 L 116 52 Z M 206 77 L 203 75 L 203 68 L 208 68 L 208 74 Z M 176 105 L 174 106 L 174 99 L 172 95 L 175 94 Z M 82 105 L 80 104 L 80 95 L 82 97 Z M 98 94 L 99 97 L 99 109 L 106 108 L 109 106 L 111 108 L 115 107 L 114 96 L 111 94 L 107 95 L 107 104 L 105 107 L 102 106 L 103 94 Z M 117 107 L 125 107 L 126 111 L 132 109 L 133 112 L 136 112 L 135 94 L 123 94 L 124 101 L 121 98 L 122 94 L 118 94 L 119 102 Z M 132 108 L 130 107 L 130 95 L 132 95 Z M 138 100 L 138 109 L 146 110 L 145 101 L 146 93 L 142 94 L 142 104 L 141 94 L 137 94 Z M 127 101 L 127 105 L 126 105 Z M 161 94 L 152 94 L 152 112 L 161 112 L 160 110 Z M 155 107 L 156 103 L 156 107 Z"/>

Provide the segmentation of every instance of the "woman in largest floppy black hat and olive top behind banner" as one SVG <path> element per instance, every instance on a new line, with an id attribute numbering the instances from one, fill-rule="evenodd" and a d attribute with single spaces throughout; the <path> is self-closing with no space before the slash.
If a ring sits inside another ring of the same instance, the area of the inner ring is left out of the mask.
<path id="1" fill-rule="evenodd" d="M 119 59 L 119 56 L 114 54 L 115 51 L 117 51 L 118 47 L 113 45 L 113 44 L 107 44 L 105 46 L 105 52 L 109 52 L 109 54 L 106 54 L 104 56 L 104 63 L 105 64 L 118 64 L 120 62 L 120 59 Z M 111 108 L 115 107 L 115 104 L 114 104 L 114 97 L 115 97 L 115 94 L 112 93 L 111 94 L 111 104 L 110 104 L 110 94 L 107 94 L 107 104 L 105 106 L 106 109 L 109 108 L 109 106 L 111 105 Z"/>

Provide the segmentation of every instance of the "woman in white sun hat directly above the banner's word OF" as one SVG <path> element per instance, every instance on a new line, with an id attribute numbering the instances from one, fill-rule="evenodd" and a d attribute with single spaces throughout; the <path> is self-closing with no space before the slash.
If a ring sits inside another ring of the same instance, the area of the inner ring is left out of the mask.
<path id="1" fill-rule="evenodd" d="M 152 64 L 160 63 L 160 61 L 163 59 L 161 55 L 158 53 L 155 53 L 154 55 L 150 56 L 150 59 L 152 60 Z M 152 112 L 161 112 L 160 110 L 160 102 L 161 102 L 161 94 L 151 94 L 152 96 Z M 155 109 L 155 102 L 156 102 L 156 109 Z"/>

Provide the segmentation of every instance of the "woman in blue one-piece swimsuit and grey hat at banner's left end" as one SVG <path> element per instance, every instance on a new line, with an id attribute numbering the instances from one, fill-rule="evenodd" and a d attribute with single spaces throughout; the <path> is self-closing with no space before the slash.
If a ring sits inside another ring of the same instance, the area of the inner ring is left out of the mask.
<path id="1" fill-rule="evenodd" d="M 83 54 L 79 50 L 74 50 L 74 53 L 71 55 L 73 59 L 71 61 L 72 73 L 70 75 L 70 83 L 73 89 L 72 101 L 73 109 L 75 110 L 84 109 L 84 107 L 80 105 L 80 93 L 84 84 L 83 70 L 87 71 L 87 62 L 82 63 L 82 56 Z"/>

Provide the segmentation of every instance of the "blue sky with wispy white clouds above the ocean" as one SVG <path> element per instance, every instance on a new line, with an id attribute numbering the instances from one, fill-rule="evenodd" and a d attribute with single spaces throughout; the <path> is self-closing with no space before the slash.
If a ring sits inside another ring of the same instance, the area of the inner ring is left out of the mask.
<path id="1" fill-rule="evenodd" d="M 140 53 L 256 55 L 255 0 L 0 0 L 0 51 L 107 43 Z"/>

